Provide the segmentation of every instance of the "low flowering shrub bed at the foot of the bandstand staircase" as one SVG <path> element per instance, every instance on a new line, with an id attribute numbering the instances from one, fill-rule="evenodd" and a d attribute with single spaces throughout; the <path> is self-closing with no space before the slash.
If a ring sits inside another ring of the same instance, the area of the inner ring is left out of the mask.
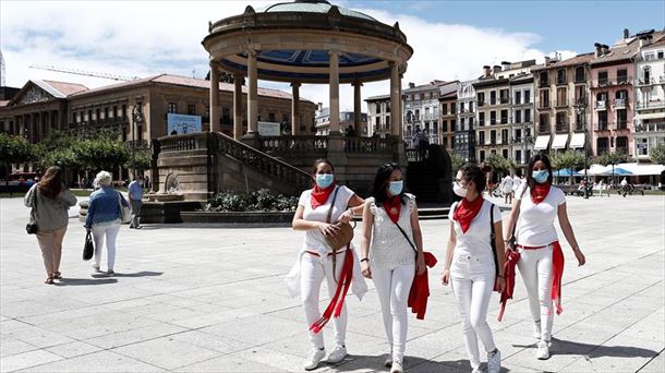
<path id="1" fill-rule="evenodd" d="M 294 212 L 298 197 L 275 194 L 267 189 L 251 193 L 221 192 L 208 200 L 208 212 Z"/>

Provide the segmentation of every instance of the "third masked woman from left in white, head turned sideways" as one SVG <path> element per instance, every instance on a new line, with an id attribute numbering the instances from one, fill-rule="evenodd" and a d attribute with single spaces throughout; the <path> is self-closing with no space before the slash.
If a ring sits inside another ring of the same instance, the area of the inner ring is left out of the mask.
<path id="1" fill-rule="evenodd" d="M 505 248 L 501 214 L 496 205 L 483 198 L 485 180 L 483 171 L 475 165 L 467 164 L 457 172 L 452 189 L 462 201 L 450 206 L 450 239 L 442 282 L 452 285 L 472 371 L 482 372 L 477 348 L 480 338 L 487 352 L 487 371 L 498 373 L 501 353 L 487 324 L 487 306 L 495 282 L 501 291 L 506 286 L 503 275 Z"/>

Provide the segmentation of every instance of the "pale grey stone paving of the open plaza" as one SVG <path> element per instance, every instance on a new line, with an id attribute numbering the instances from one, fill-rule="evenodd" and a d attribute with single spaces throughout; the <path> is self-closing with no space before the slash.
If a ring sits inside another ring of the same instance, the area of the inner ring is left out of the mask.
<path id="1" fill-rule="evenodd" d="M 564 313 L 555 318 L 553 356 L 534 357 L 518 275 L 504 321 L 496 321 L 496 294 L 488 315 L 503 371 L 663 372 L 665 198 L 569 197 L 568 210 L 588 265 L 578 267 L 564 242 Z M 302 233 L 123 226 L 118 275 L 108 277 L 81 260 L 84 229 L 72 209 L 64 279 L 47 286 L 36 240 L 25 234 L 22 200 L 0 200 L 0 212 L 1 372 L 302 371 L 310 348 L 304 315 L 283 284 Z M 443 260 L 449 221 L 421 225 L 426 250 Z M 431 270 L 426 320 L 410 316 L 409 372 L 470 370 L 457 305 L 451 289 L 439 285 L 440 270 L 440 264 Z M 348 298 L 349 357 L 317 372 L 385 371 L 389 347 L 376 292 L 367 284 L 371 291 L 362 301 Z M 327 301 L 324 286 L 322 309 Z M 331 326 L 324 339 L 330 348 Z"/>

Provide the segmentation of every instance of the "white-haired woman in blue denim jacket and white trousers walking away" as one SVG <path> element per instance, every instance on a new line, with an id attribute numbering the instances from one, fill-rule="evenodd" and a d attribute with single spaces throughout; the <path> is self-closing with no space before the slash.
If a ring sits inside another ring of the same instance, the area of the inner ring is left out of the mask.
<path id="1" fill-rule="evenodd" d="M 122 222 L 121 205 L 128 207 L 126 200 L 111 186 L 112 177 L 107 171 L 97 173 L 95 178 L 95 186 L 99 188 L 93 194 L 88 202 L 87 216 L 85 218 L 85 228 L 93 231 L 95 240 L 95 264 L 93 268 L 100 270 L 101 248 L 106 239 L 106 249 L 108 252 L 108 270 L 107 274 L 114 275 L 113 266 L 116 264 L 116 239 L 120 231 Z"/>

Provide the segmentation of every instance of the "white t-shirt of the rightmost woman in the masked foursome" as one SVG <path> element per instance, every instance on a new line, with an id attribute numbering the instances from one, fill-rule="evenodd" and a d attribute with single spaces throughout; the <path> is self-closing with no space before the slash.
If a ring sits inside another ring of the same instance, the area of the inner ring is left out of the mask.
<path id="1" fill-rule="evenodd" d="M 560 189 L 552 186 L 545 200 L 535 204 L 531 201 L 531 191 L 527 183 L 517 191 L 516 198 L 520 200 L 524 189 L 527 189 L 524 196 L 519 202 L 520 216 L 517 219 L 516 227 L 517 242 L 525 246 L 542 246 L 557 241 L 554 218 L 557 215 L 558 207 L 566 203 L 566 194 Z"/>

